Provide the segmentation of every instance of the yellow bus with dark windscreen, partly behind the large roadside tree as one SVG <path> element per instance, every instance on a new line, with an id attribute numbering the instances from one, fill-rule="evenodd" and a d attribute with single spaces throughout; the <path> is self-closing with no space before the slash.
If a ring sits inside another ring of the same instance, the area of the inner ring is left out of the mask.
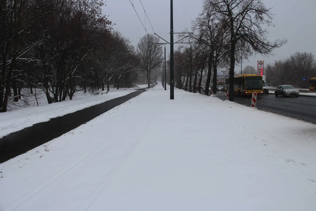
<path id="1" fill-rule="evenodd" d="M 256 74 L 243 74 L 234 77 L 234 95 L 247 96 L 253 92 L 263 94 L 262 76 Z M 229 90 L 229 78 L 226 78 L 226 87 Z"/>

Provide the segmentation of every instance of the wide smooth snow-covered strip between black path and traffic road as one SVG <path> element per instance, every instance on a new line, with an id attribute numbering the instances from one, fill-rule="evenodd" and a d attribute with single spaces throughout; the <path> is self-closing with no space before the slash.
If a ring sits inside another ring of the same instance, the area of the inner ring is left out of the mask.
<path id="1" fill-rule="evenodd" d="M 0 210 L 315 211 L 315 134 L 158 84 L 0 164 Z"/>

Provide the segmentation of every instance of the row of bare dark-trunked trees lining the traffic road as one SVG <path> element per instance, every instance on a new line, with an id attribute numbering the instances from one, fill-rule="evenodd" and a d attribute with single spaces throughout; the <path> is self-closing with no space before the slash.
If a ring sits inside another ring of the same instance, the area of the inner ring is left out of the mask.
<path id="1" fill-rule="evenodd" d="M 216 94 L 217 68 L 229 66 L 228 90 L 234 93 L 234 69 L 241 59 L 256 53 L 271 55 L 273 49 L 287 42 L 286 39 L 267 40 L 268 31 L 264 27 L 273 26 L 272 18 L 270 8 L 264 5 L 263 0 L 204 0 L 203 10 L 192 24 L 193 34 L 186 38 L 193 44 L 185 46 L 182 52 L 175 52 L 177 87 L 182 89 L 184 83 L 187 86 L 184 81 L 179 85 L 183 74 L 190 80 L 191 74 L 195 74 L 201 82 L 203 69 L 207 67 L 205 94 L 212 71 L 213 92 Z M 181 59 L 181 55 L 185 59 Z M 178 67 L 182 68 L 178 70 Z M 234 95 L 229 95 L 229 100 L 234 101 Z"/>

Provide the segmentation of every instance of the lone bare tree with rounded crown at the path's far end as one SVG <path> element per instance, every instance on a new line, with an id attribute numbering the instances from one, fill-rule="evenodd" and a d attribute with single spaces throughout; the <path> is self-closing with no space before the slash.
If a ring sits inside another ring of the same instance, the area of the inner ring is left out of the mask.
<path id="1" fill-rule="evenodd" d="M 150 88 L 150 75 L 153 68 L 162 62 L 162 46 L 157 46 L 159 38 L 153 34 L 145 34 L 137 44 L 137 55 L 140 67 L 147 78 L 148 88 Z"/>

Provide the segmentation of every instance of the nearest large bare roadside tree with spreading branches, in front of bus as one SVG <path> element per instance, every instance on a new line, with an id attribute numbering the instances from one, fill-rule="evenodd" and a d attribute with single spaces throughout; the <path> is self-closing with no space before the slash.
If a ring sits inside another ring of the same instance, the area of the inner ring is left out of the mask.
<path id="1" fill-rule="evenodd" d="M 230 34 L 229 92 L 234 93 L 234 68 L 236 47 L 240 40 L 249 44 L 256 53 L 271 55 L 272 50 L 281 47 L 286 39 L 270 42 L 268 31 L 263 25 L 273 25 L 271 8 L 266 8 L 262 0 L 205 0 L 218 15 L 225 16 Z M 229 95 L 234 101 L 234 95 Z"/>

